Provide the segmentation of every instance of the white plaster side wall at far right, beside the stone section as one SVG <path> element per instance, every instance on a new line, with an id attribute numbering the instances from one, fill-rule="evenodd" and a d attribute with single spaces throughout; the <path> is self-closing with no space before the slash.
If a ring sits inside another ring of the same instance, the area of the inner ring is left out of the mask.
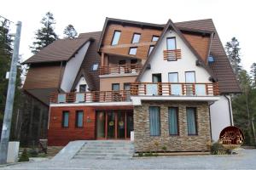
<path id="1" fill-rule="evenodd" d="M 230 98 L 230 96 L 227 97 Z M 228 99 L 226 99 L 224 96 L 220 96 L 220 99 L 210 106 L 210 112 L 212 123 L 212 140 L 217 141 L 219 133 L 222 131 L 222 129 L 224 129 L 224 127 L 230 126 L 230 111 Z M 233 122 L 232 110 L 231 120 Z"/>

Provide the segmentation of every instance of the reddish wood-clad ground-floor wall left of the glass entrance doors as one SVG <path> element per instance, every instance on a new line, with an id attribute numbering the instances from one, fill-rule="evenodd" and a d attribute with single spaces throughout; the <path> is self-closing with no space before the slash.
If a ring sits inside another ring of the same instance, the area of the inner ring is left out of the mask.
<path id="1" fill-rule="evenodd" d="M 69 111 L 68 127 L 62 127 L 62 111 Z M 84 111 L 83 127 L 75 127 L 76 111 Z M 90 121 L 88 120 L 90 117 Z M 49 145 L 66 145 L 72 140 L 95 139 L 96 115 L 92 107 L 51 107 Z"/>

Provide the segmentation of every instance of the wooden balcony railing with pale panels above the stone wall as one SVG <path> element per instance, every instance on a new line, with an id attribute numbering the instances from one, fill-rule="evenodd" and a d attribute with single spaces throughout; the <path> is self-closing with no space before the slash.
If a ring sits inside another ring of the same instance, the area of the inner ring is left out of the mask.
<path id="1" fill-rule="evenodd" d="M 131 95 L 215 96 L 218 83 L 132 82 Z"/>

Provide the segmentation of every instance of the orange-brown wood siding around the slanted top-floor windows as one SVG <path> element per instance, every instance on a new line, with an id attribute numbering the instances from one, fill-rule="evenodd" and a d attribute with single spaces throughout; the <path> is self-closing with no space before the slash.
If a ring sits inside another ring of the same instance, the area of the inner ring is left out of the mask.
<path id="1" fill-rule="evenodd" d="M 111 46 L 114 31 L 121 31 L 118 45 Z M 139 43 L 131 43 L 134 33 L 140 33 Z M 146 59 L 148 56 L 149 46 L 155 42 L 151 42 L 153 36 L 160 36 L 160 30 L 141 28 L 136 26 L 121 26 L 110 24 L 105 32 L 102 41 L 101 51 L 109 54 L 128 55 L 130 47 L 137 48 L 137 58 Z M 131 55 L 134 56 L 134 55 Z"/>

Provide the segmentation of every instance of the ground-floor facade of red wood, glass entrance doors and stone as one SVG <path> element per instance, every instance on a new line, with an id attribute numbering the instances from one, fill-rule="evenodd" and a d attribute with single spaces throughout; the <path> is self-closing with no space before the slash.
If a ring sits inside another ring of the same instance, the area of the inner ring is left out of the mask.
<path id="1" fill-rule="evenodd" d="M 73 140 L 134 140 L 136 152 L 207 151 L 211 142 L 208 102 L 143 101 L 142 105 L 54 106 L 49 145 Z"/>

